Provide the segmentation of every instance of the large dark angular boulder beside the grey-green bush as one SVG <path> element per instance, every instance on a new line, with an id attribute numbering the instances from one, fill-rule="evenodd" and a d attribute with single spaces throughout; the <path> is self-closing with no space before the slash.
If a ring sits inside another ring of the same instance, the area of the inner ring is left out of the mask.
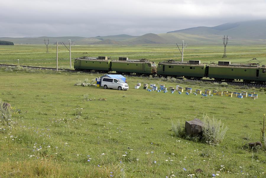
<path id="1" fill-rule="evenodd" d="M 194 118 L 194 120 L 192 121 L 186 121 L 185 123 L 185 131 L 186 131 L 186 135 L 188 136 L 202 136 L 202 126 L 203 126 L 203 122 L 198 119 L 198 118 Z"/>

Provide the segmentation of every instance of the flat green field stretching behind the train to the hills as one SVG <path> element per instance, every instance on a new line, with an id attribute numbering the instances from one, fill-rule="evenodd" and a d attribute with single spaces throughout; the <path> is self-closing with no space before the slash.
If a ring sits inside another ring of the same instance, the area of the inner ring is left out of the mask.
<path id="1" fill-rule="evenodd" d="M 75 45 L 72 50 L 72 68 L 74 59 L 80 56 L 108 56 L 112 59 L 129 57 L 129 59 L 146 58 L 156 63 L 169 59 L 181 60 L 176 45 Z M 83 54 L 87 53 L 87 54 Z M 59 45 L 59 68 L 69 68 L 69 52 Z M 246 62 L 253 58 L 266 64 L 266 48 L 259 46 L 227 46 L 227 58 L 223 57 L 223 46 L 190 46 L 184 49 L 184 60 L 201 60 L 201 62 L 231 61 Z M 56 45 L 49 45 L 46 53 L 45 45 L 0 45 L 0 63 L 17 65 L 42 66 L 56 68 Z"/>

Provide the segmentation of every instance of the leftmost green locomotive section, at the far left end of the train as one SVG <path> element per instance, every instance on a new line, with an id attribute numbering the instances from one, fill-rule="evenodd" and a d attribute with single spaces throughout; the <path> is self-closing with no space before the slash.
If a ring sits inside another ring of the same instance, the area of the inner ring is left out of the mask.
<path id="1" fill-rule="evenodd" d="M 109 72 L 111 70 L 111 60 L 106 56 L 76 58 L 74 69 L 79 71 Z"/>

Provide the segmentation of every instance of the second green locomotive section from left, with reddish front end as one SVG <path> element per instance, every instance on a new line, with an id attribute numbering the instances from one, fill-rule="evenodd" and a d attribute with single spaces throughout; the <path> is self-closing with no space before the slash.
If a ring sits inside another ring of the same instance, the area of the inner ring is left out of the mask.
<path id="1" fill-rule="evenodd" d="M 119 57 L 119 60 L 112 60 L 111 70 L 119 74 L 155 75 L 156 64 L 146 59 L 129 60 L 128 57 Z"/>

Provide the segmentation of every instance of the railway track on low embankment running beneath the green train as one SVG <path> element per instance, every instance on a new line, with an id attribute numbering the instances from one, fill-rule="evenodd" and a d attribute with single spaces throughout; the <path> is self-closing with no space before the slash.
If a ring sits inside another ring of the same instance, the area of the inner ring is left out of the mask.
<path id="1" fill-rule="evenodd" d="M 8 64 L 0 64 L 0 67 L 17 67 L 17 65 L 8 65 Z M 34 69 L 43 69 L 43 70 L 56 70 L 56 68 L 47 68 L 47 67 L 34 67 L 34 66 L 25 66 L 25 65 L 20 65 L 20 67 L 24 67 L 24 68 L 34 68 Z M 60 71 L 68 71 L 68 72 L 83 72 L 83 73 L 94 73 L 94 74 L 98 74 L 99 72 L 94 72 L 94 71 L 77 71 L 77 70 L 72 70 L 72 69 L 58 69 Z M 108 74 L 114 74 L 111 72 L 108 72 Z M 126 74 L 126 76 L 130 76 L 130 77 L 140 77 L 134 74 Z M 147 77 L 147 76 L 146 76 Z M 154 78 L 159 78 L 157 76 L 153 76 Z M 180 78 L 181 79 L 181 78 Z M 198 80 L 198 79 L 189 79 L 191 80 Z M 226 82 L 227 84 L 230 85 L 239 85 L 239 86 L 254 86 L 254 87 L 266 87 L 266 84 L 257 84 L 257 83 L 244 83 L 244 82 L 240 82 L 240 81 L 217 81 L 217 80 L 210 80 L 210 79 L 200 79 L 198 81 L 205 81 L 205 82 L 217 82 L 217 83 L 222 83 L 222 82 Z"/>

